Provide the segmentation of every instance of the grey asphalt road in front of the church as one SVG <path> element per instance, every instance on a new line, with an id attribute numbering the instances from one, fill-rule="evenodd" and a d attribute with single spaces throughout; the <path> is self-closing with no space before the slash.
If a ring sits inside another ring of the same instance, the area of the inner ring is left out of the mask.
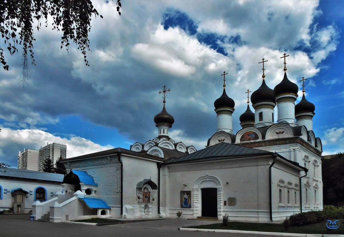
<path id="1" fill-rule="evenodd" d="M 107 226 L 90 226 L 38 222 L 30 220 L 30 215 L 0 215 L 0 237 L 273 237 L 272 235 L 209 233 L 178 230 L 179 227 L 208 223 L 214 222 L 204 220 L 162 219 Z"/>

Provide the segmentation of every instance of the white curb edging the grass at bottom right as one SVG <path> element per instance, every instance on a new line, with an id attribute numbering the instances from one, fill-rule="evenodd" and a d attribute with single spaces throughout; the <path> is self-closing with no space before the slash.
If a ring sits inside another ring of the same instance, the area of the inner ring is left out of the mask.
<path id="1" fill-rule="evenodd" d="M 201 231 L 201 232 L 215 232 L 215 233 L 239 233 L 239 234 L 257 234 L 257 235 L 277 235 L 277 236 L 290 236 L 290 237 L 344 237 L 344 235 L 298 234 L 298 233 L 279 233 L 279 232 L 226 230 L 226 229 L 179 228 L 179 230 L 184 230 L 184 231 Z"/>

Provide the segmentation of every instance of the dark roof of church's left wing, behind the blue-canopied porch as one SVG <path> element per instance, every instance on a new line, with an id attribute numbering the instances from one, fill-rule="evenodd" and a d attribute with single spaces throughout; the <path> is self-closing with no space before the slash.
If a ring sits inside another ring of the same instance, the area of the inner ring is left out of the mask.
<path id="1" fill-rule="evenodd" d="M 135 155 L 137 157 L 147 158 L 147 159 L 151 159 L 151 160 L 158 160 L 158 161 L 162 160 L 160 157 L 156 157 L 155 155 L 146 154 L 146 152 L 147 151 L 137 152 L 137 151 L 130 151 L 130 150 L 127 150 L 124 148 L 114 148 L 114 149 L 110 149 L 110 150 L 106 150 L 106 151 L 99 151 L 99 152 L 95 152 L 95 153 L 91 153 L 91 154 L 80 155 L 78 157 L 64 159 L 63 161 L 61 161 L 61 163 L 65 163 L 65 162 L 73 161 L 73 160 L 78 160 L 78 159 L 84 159 L 84 158 L 114 155 L 117 153 L 127 154 L 127 155 Z"/>

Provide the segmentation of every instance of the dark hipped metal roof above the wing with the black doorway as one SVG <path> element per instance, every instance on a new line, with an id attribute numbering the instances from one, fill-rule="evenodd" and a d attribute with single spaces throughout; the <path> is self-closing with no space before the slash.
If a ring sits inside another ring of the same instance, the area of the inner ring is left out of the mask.
<path id="1" fill-rule="evenodd" d="M 262 155 L 262 154 L 273 154 L 269 151 L 262 151 L 254 148 L 248 147 L 241 147 L 235 144 L 230 144 L 226 142 L 220 142 L 215 144 L 214 146 L 210 146 L 204 148 L 202 150 L 193 152 L 191 154 L 185 155 L 180 158 L 173 159 L 168 163 L 176 163 L 176 162 L 190 162 L 190 161 L 198 161 L 200 159 L 206 160 L 217 160 L 227 158 L 235 158 L 235 157 L 242 157 L 242 156 L 251 156 L 251 155 Z"/>

